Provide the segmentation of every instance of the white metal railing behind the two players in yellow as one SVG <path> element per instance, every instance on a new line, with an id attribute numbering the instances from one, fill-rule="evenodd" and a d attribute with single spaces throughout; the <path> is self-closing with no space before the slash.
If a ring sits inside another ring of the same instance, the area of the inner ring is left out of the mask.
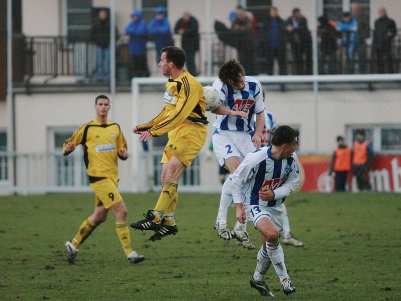
<path id="1" fill-rule="evenodd" d="M 161 188 L 160 158 L 162 151 L 142 153 L 139 170 L 132 170 L 133 158 L 119 161 L 121 192 L 158 191 Z M 180 181 L 183 191 L 200 186 L 199 158 L 185 171 Z M 140 177 L 134 175 L 140 174 Z M 135 179 L 141 183 L 135 183 Z M 142 179 L 141 179 L 142 178 Z M 7 153 L 0 152 L 0 194 L 90 192 L 83 156 L 72 153 Z"/>

